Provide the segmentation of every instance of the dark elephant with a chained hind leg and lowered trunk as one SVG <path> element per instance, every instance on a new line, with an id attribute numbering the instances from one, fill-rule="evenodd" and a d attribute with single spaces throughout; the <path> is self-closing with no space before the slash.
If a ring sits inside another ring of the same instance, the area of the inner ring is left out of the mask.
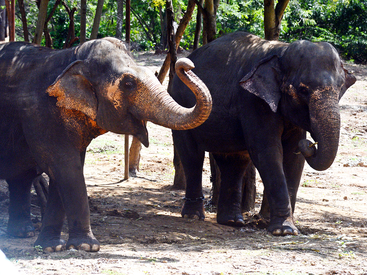
<path id="1" fill-rule="evenodd" d="M 288 44 L 245 32 L 219 37 L 188 58 L 210 91 L 212 111 L 197 128 L 172 130 L 186 177 L 182 217 L 205 217 L 201 179 L 204 153 L 211 152 L 221 174 L 218 223 L 244 225 L 241 180 L 251 160 L 269 202 L 267 230 L 297 235 L 293 213 L 305 160 L 316 170 L 333 163 L 338 102 L 356 78 L 329 43 Z M 178 77 L 171 96 L 184 107 L 195 104 Z"/>

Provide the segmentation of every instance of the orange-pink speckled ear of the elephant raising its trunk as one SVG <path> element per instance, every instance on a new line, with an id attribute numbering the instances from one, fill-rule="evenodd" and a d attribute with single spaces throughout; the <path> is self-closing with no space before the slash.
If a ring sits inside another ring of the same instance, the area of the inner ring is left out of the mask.
<path id="1" fill-rule="evenodd" d="M 71 63 L 47 88 L 50 96 L 57 97 L 57 106 L 81 111 L 92 120 L 97 117 L 98 100 L 92 84 L 87 80 L 86 60 Z"/>

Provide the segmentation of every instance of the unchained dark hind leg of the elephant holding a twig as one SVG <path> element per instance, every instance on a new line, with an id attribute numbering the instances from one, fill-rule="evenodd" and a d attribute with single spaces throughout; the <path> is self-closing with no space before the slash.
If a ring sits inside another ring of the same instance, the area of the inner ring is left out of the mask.
<path id="1" fill-rule="evenodd" d="M 213 154 L 221 172 L 217 222 L 244 226 L 241 211 L 242 180 L 250 162 L 248 154 Z"/>

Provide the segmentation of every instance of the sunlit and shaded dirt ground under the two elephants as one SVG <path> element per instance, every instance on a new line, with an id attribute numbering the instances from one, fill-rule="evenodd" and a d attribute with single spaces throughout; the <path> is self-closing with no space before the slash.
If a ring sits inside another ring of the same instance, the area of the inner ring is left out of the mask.
<path id="1" fill-rule="evenodd" d="M 155 72 L 164 56 L 140 53 L 134 59 Z M 107 133 L 88 147 L 84 173 L 99 252 L 43 253 L 33 247 L 36 237 L 8 236 L 4 181 L 0 181 L 0 249 L 19 274 L 27 275 L 367 274 L 367 66 L 345 67 L 357 82 L 340 101 L 338 155 L 323 172 L 305 165 L 294 215 L 299 236 L 272 236 L 255 226 L 252 215 L 259 211 L 262 198 L 258 176 L 256 209 L 245 214 L 246 227 L 217 224 L 212 208 L 206 210 L 205 221 L 183 219 L 184 192 L 170 189 L 171 132 L 148 123 L 150 146 L 141 150 L 137 177 L 123 181 L 123 136 Z M 206 197 L 211 190 L 209 176 L 206 157 Z M 32 206 L 32 216 L 39 220 L 38 207 Z M 67 238 L 66 226 L 63 236 Z"/>

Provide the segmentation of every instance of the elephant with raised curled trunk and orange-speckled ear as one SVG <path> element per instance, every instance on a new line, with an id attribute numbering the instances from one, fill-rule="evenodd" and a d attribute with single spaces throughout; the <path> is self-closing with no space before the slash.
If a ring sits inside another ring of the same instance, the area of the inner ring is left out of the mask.
<path id="1" fill-rule="evenodd" d="M 176 72 L 197 104 L 179 106 L 155 75 L 137 66 L 116 38 L 55 50 L 25 42 L 0 45 L 0 178 L 10 192 L 7 233 L 34 236 L 30 186 L 50 177 L 47 206 L 35 245 L 44 251 L 96 252 L 83 175 L 86 148 L 108 131 L 136 136 L 148 147 L 146 121 L 190 129 L 206 120 L 211 96 L 186 58 Z M 61 238 L 65 216 L 69 237 Z"/>

